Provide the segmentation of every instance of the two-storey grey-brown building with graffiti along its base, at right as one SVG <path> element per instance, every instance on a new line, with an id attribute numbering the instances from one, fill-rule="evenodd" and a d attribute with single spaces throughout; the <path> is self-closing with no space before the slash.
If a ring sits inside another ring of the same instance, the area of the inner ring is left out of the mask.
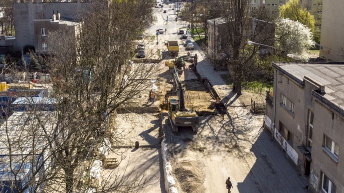
<path id="1" fill-rule="evenodd" d="M 310 192 L 344 191 L 344 63 L 273 63 L 264 126 L 309 177 Z"/>

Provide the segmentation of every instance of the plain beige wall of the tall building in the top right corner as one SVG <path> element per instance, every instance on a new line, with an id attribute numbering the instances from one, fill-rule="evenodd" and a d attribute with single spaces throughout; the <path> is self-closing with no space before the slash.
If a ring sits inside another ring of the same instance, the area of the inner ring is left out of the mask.
<path id="1" fill-rule="evenodd" d="M 344 4 L 342 0 L 322 1 L 319 55 L 333 61 L 344 60 Z M 335 31 L 335 32 L 334 32 Z"/>

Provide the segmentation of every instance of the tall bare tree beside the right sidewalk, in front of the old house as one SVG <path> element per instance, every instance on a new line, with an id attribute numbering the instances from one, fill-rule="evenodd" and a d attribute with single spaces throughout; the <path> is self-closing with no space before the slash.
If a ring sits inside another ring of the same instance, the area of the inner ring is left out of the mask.
<path id="1" fill-rule="evenodd" d="M 233 91 L 240 95 L 242 81 L 255 66 L 252 62 L 259 50 L 256 46 L 248 48 L 247 40 L 271 44 L 274 36 L 271 22 L 273 17 L 262 8 L 250 12 L 244 0 L 225 0 L 221 6 L 227 11 L 224 15 L 221 41 L 218 40 L 218 43 L 221 43 L 221 49 L 230 55 L 227 66 L 234 81 Z M 252 16 L 256 19 L 252 19 Z"/>

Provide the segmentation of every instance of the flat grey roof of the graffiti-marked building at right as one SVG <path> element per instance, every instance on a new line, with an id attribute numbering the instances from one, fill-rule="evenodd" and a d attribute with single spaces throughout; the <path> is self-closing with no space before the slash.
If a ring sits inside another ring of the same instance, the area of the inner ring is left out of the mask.
<path id="1" fill-rule="evenodd" d="M 300 85 L 307 77 L 324 85 L 323 93 L 314 91 L 312 95 L 344 116 L 344 63 L 274 62 L 273 65 Z"/>

